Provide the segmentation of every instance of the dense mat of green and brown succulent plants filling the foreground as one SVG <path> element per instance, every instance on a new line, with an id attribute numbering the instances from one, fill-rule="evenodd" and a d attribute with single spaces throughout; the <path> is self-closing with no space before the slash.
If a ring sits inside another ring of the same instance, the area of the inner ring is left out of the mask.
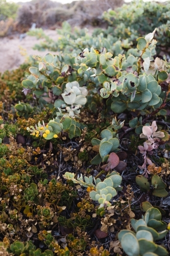
<path id="1" fill-rule="evenodd" d="M 168 255 L 170 64 L 159 26 L 130 27 L 129 41 L 71 35 L 64 23 L 59 54 L 1 76 L 3 255 Z"/>

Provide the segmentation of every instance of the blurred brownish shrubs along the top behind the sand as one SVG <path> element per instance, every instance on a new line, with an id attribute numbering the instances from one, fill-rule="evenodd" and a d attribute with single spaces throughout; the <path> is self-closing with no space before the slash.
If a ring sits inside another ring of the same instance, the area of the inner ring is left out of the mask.
<path id="1" fill-rule="evenodd" d="M 15 4 L 0 0 L 0 36 L 26 32 L 33 23 L 36 23 L 37 28 L 51 29 L 61 26 L 65 20 L 71 26 L 101 25 L 102 13 L 123 3 L 123 0 L 89 0 L 63 5 L 50 0 L 32 0 Z"/>

